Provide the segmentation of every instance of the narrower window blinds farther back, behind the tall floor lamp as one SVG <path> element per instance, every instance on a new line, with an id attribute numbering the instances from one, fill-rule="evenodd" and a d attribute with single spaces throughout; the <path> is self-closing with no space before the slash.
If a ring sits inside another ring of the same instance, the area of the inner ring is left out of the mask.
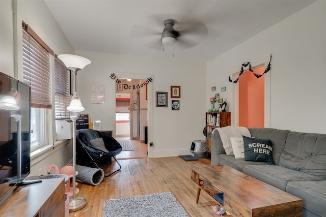
<path id="1" fill-rule="evenodd" d="M 56 119 L 68 118 L 69 111 L 69 71 L 55 59 L 55 110 Z"/>

